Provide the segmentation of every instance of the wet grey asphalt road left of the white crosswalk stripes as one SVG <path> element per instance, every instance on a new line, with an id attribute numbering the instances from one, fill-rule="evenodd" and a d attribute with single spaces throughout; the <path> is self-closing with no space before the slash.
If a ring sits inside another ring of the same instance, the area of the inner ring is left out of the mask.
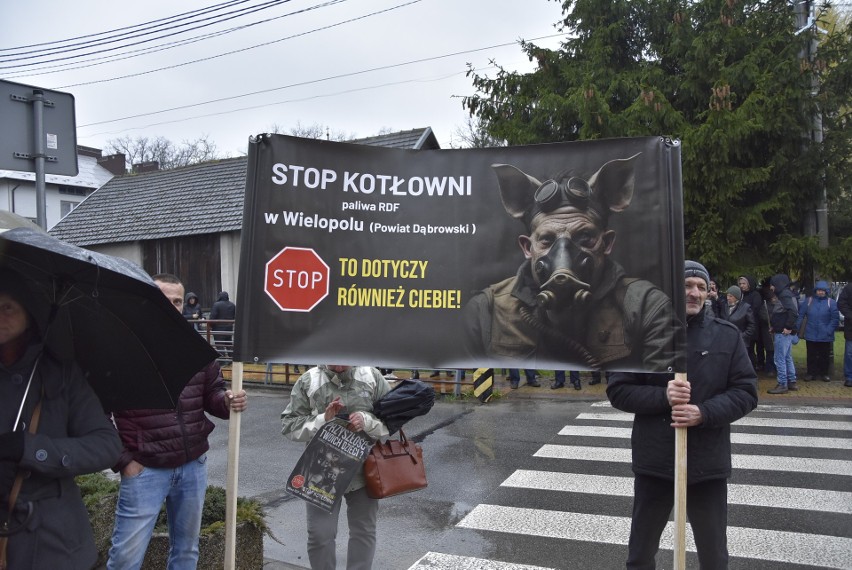
<path id="1" fill-rule="evenodd" d="M 266 507 L 267 522 L 278 541 L 265 539 L 264 556 L 308 568 L 305 507 L 283 491 L 303 449 L 303 444 L 280 434 L 279 417 L 289 392 L 249 387 L 249 394 L 250 407 L 241 424 L 239 495 L 255 497 Z M 589 404 L 508 398 L 487 405 L 438 401 L 428 415 L 412 420 L 405 431 L 423 446 L 429 487 L 382 501 L 374 567 L 409 568 L 425 553 L 436 550 L 506 559 L 502 551 L 519 546 L 518 540 L 534 540 L 506 534 L 504 540 L 494 542 L 480 538 L 475 531 L 457 531 L 452 537 L 446 531 L 477 504 L 488 502 L 500 483 L 522 467 L 518 458 L 529 457 L 556 438 L 565 414 L 576 414 Z M 208 454 L 212 485 L 224 486 L 227 439 L 227 423 L 217 420 Z M 624 469 L 626 476 L 629 466 Z M 342 522 L 344 517 L 345 513 Z M 338 536 L 339 561 L 345 560 L 346 539 L 344 522 Z M 459 544 L 450 545 L 448 540 Z M 621 549 L 613 548 L 613 564 L 619 565 L 622 557 Z"/>

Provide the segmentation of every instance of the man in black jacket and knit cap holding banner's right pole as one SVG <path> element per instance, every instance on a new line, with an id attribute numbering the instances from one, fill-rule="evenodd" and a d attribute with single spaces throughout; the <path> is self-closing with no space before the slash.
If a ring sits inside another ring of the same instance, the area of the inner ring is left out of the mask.
<path id="1" fill-rule="evenodd" d="M 651 570 L 674 504 L 675 430 L 687 428 L 686 511 L 702 568 L 728 567 L 731 423 L 757 406 L 757 376 L 737 328 L 704 311 L 710 276 L 685 265 L 687 381 L 613 373 L 612 405 L 633 420 L 633 522 L 627 568 Z"/>

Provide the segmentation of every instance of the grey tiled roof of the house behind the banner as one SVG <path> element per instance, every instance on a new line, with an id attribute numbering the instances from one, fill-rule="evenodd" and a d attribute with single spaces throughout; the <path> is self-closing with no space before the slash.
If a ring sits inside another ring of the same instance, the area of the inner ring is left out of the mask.
<path id="1" fill-rule="evenodd" d="M 349 142 L 440 148 L 428 127 Z M 80 202 L 50 234 L 90 246 L 238 231 L 243 223 L 247 162 L 243 156 L 115 177 Z"/>

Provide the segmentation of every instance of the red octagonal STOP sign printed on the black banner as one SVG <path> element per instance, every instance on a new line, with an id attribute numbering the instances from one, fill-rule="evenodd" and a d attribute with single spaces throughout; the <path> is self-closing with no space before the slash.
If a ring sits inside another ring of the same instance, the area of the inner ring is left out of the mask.
<path id="1" fill-rule="evenodd" d="M 267 262 L 263 290 L 282 311 L 307 312 L 328 296 L 328 273 L 314 250 L 285 247 Z"/>

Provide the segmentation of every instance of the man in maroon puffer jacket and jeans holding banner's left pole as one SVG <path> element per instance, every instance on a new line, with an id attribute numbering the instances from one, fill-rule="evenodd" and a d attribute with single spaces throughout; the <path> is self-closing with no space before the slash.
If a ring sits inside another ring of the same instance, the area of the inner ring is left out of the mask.
<path id="1" fill-rule="evenodd" d="M 174 275 L 154 276 L 172 305 L 181 311 L 184 287 Z M 205 412 L 227 419 L 246 409 L 246 393 L 225 389 L 214 360 L 184 387 L 173 410 L 113 412 L 124 451 L 113 467 L 121 472 L 109 570 L 139 568 L 154 524 L 166 503 L 169 568 L 195 568 L 201 511 L 207 491 L 207 436 L 213 422 Z"/>

